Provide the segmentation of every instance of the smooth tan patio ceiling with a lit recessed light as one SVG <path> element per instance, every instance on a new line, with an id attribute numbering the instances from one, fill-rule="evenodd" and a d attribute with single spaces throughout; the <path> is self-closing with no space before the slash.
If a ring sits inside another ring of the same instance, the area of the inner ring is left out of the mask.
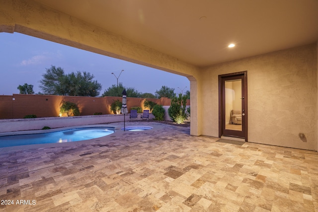
<path id="1" fill-rule="evenodd" d="M 36 1 L 199 67 L 318 40 L 318 0 Z"/>

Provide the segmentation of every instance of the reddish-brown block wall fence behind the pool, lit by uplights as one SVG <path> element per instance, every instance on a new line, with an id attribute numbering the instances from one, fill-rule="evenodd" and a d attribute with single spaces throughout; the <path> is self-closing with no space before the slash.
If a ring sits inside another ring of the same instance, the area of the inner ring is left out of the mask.
<path id="1" fill-rule="evenodd" d="M 84 96 L 54 96 L 54 95 L 30 95 L 13 94 L 0 96 L 0 119 L 21 119 L 25 115 L 34 114 L 37 118 L 58 117 L 60 107 L 65 101 L 74 102 L 79 106 L 80 116 L 90 116 L 96 112 L 103 115 L 113 114 L 110 111 L 110 105 L 116 101 L 122 101 L 122 97 L 84 97 Z M 127 97 L 127 108 L 130 113 L 131 107 L 144 107 L 145 98 Z M 162 97 L 161 99 L 151 99 L 162 106 L 170 106 L 170 99 Z M 190 100 L 187 100 L 190 105 Z"/>

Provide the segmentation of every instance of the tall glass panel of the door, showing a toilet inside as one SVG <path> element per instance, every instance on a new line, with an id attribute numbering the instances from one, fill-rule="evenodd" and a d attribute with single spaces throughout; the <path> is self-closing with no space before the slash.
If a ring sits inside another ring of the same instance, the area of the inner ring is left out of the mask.
<path id="1" fill-rule="evenodd" d="M 242 131 L 242 80 L 225 81 L 225 129 Z"/>

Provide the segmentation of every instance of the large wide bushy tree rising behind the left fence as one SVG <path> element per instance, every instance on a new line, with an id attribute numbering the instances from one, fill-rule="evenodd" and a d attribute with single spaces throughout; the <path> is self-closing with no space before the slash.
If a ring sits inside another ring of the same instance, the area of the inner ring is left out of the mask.
<path id="1" fill-rule="evenodd" d="M 62 68 L 51 66 L 42 76 L 40 88 L 45 94 L 94 97 L 101 90 L 101 84 L 92 80 L 94 75 L 86 71 L 65 74 Z"/>

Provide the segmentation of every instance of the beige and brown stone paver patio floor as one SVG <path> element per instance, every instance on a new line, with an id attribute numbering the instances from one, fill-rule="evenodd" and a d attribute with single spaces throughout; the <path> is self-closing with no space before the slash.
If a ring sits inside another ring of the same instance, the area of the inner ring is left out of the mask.
<path id="1" fill-rule="evenodd" d="M 318 212 L 316 151 L 127 124 L 154 129 L 0 149 L 0 212 Z"/>

